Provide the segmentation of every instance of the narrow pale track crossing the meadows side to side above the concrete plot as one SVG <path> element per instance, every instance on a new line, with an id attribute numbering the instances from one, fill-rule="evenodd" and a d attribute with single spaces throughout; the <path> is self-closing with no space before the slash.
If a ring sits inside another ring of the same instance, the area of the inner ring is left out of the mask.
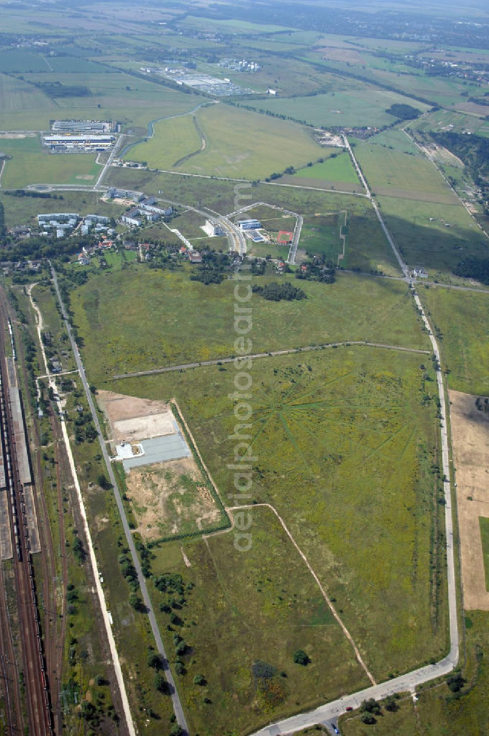
<path id="1" fill-rule="evenodd" d="M 399 350 L 401 353 L 416 353 L 418 355 L 429 355 L 429 350 L 421 350 L 420 347 L 403 347 L 401 345 L 388 345 L 382 342 L 368 342 L 367 340 L 344 340 L 342 342 L 324 342 L 319 345 L 305 345 L 304 347 L 290 347 L 288 350 L 269 350 L 268 353 L 255 353 L 249 355 L 250 360 L 258 360 L 259 358 L 276 358 L 279 355 L 293 355 L 294 353 L 310 353 L 314 350 L 326 350 L 327 347 L 349 347 L 349 345 L 360 345 L 364 347 L 377 347 L 381 350 Z M 213 358 L 210 361 L 196 361 L 195 363 L 182 363 L 175 366 L 165 366 L 162 368 L 149 368 L 147 370 L 135 371 L 132 373 L 118 373 L 109 378 L 109 381 L 124 381 L 125 378 L 140 378 L 144 375 L 157 375 L 158 373 L 170 373 L 172 371 L 188 370 L 191 368 L 204 368 L 206 366 L 221 365 L 224 363 L 232 363 L 240 360 L 236 355 L 230 355 L 225 358 Z"/>

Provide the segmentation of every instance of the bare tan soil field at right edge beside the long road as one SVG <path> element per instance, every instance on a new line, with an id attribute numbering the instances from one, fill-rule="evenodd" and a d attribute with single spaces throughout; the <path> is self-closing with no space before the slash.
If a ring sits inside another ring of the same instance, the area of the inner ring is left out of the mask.
<path id="1" fill-rule="evenodd" d="M 489 611 L 479 517 L 489 517 L 489 411 L 476 396 L 449 392 L 457 480 L 463 602 L 467 610 Z M 469 500 L 471 498 L 472 500 Z"/>

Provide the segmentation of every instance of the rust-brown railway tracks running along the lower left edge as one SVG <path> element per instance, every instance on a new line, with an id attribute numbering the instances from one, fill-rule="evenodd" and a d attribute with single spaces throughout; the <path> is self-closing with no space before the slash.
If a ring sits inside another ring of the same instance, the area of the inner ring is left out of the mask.
<path id="1" fill-rule="evenodd" d="M 4 459 L 8 515 L 12 535 L 13 576 L 22 651 L 25 707 L 29 723 L 29 735 L 51 736 L 54 732 L 52 729 L 49 682 L 46 676 L 41 639 L 38 599 L 26 520 L 24 485 L 19 472 L 18 447 L 15 442 L 13 411 L 10 394 L 7 391 L 8 385 L 4 332 L 0 330 L 0 442 Z M 21 713 L 19 717 L 21 717 Z"/>

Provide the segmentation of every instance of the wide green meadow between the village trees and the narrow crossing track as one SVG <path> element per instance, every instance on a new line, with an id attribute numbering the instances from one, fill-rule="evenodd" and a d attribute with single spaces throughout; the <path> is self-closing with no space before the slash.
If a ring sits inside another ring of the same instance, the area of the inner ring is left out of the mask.
<path id="1" fill-rule="evenodd" d="M 162 272 L 132 266 L 123 277 L 102 272 L 72 291 L 74 323 L 96 385 L 115 374 L 234 353 L 232 281 L 204 286 L 189 274 L 186 267 Z M 260 277 L 260 283 L 268 280 Z M 331 285 L 301 281 L 301 289 L 307 299 L 282 302 L 279 309 L 254 298 L 257 353 L 336 340 L 427 345 L 402 283 L 342 274 Z M 155 333 L 154 325 L 162 324 L 165 329 Z"/>

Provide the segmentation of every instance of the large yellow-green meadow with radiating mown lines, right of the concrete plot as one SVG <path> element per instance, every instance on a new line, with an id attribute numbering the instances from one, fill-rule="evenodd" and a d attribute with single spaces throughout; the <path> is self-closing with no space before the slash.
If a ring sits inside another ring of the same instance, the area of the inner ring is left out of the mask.
<path id="1" fill-rule="evenodd" d="M 351 346 L 253 367 L 252 498 L 282 516 L 377 678 L 438 658 L 446 647 L 443 564 L 439 558 L 435 572 L 427 564 L 432 524 L 443 516 L 429 470 L 438 462 L 427 398 L 435 387 L 424 383 L 419 358 Z M 180 373 L 127 379 L 115 390 L 176 396 L 215 482 L 229 488 L 233 371 L 201 368 L 191 376 L 190 383 Z M 232 565 L 232 542 L 225 534 L 215 539 Z M 282 547 L 282 565 L 283 554 Z M 221 556 L 213 557 L 220 565 Z M 249 595 L 242 600 L 251 604 Z M 256 620 L 251 605 L 246 619 Z M 269 605 L 263 600 L 264 611 Z"/>

